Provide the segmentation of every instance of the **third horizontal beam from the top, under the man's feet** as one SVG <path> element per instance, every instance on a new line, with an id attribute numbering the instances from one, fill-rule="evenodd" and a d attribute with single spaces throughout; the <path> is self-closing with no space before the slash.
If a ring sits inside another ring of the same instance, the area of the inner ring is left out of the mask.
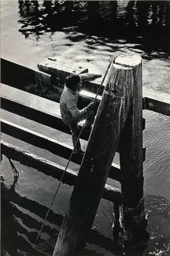
<path id="1" fill-rule="evenodd" d="M 47 136 L 43 136 L 38 132 L 32 131 L 22 126 L 15 125 L 4 119 L 1 119 L 1 131 L 9 136 L 32 144 L 35 147 L 46 149 L 49 152 L 54 153 L 64 159 L 69 159 L 73 150 L 73 147 L 70 147 L 65 143 L 61 143 Z M 73 154 L 71 161 L 80 165 L 82 158 L 83 157 L 81 155 Z M 112 164 L 109 178 L 121 181 L 121 172 L 120 168 L 117 168 L 117 165 Z"/>

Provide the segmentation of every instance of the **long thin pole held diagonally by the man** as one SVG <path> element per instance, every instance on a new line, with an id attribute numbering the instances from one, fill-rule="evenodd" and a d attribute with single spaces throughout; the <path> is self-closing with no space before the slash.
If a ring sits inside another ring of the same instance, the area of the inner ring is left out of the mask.
<path id="1" fill-rule="evenodd" d="M 105 72 L 105 74 L 104 74 L 104 77 L 103 77 L 103 79 L 102 79 L 102 82 L 101 82 L 101 84 L 100 84 L 100 86 L 99 86 L 99 88 L 98 88 L 98 90 L 97 90 L 97 93 L 96 93 L 96 96 L 95 96 L 95 100 L 94 100 L 94 101 L 96 101 L 96 99 L 97 99 L 97 96 L 98 96 L 98 94 L 99 94 L 99 90 L 100 90 L 100 88 L 101 88 L 101 86 L 102 86 L 102 84 L 103 84 L 103 82 L 104 82 L 104 79 L 106 78 L 106 75 L 107 75 L 107 73 L 108 73 L 108 70 L 109 70 L 109 68 L 110 68 L 110 65 L 111 65 L 111 63 L 114 61 L 114 59 L 115 59 L 114 56 L 111 56 L 110 59 L 109 59 L 109 60 L 110 60 L 110 63 L 109 63 L 108 68 L 107 68 L 107 70 L 106 70 L 106 72 Z M 50 204 L 49 209 L 48 209 L 48 211 L 47 211 L 47 214 L 46 214 L 46 216 L 45 216 L 43 225 L 42 225 L 42 227 L 41 227 L 41 229 L 40 229 L 40 232 L 38 233 L 38 236 L 37 236 L 36 240 L 38 240 L 38 238 L 39 238 L 40 235 L 41 235 L 41 232 L 42 232 L 42 229 L 43 229 L 43 227 L 44 227 L 45 221 L 46 221 L 46 219 L 47 219 L 48 213 L 49 213 L 49 211 L 50 211 L 50 209 L 51 209 L 51 206 L 52 206 L 52 204 L 53 204 L 53 202 L 54 202 L 54 200 L 55 200 L 55 197 L 56 197 L 56 195 L 57 195 L 57 193 L 58 193 L 59 187 L 60 187 L 61 182 L 62 182 L 62 178 L 63 178 L 64 174 L 66 173 L 67 167 L 69 166 L 69 163 L 70 163 L 71 157 L 72 157 L 72 155 L 73 155 L 73 153 L 74 153 L 74 150 L 75 150 L 75 147 L 76 147 L 76 145 L 77 145 L 77 142 L 79 141 L 80 136 L 81 136 L 81 133 L 82 133 L 82 131 L 83 131 L 83 129 L 84 129 L 84 125 L 85 125 L 85 123 L 83 124 L 82 129 L 81 129 L 81 131 L 80 131 L 80 133 L 79 133 L 79 136 L 78 136 L 78 138 L 77 138 L 77 140 L 76 140 L 76 142 L 75 142 L 74 149 L 72 150 L 72 153 L 71 153 L 71 155 L 70 155 L 70 158 L 69 158 L 69 161 L 68 161 L 68 163 L 67 163 L 67 166 L 66 166 L 66 168 L 64 169 L 64 172 L 63 172 L 63 174 L 62 174 L 62 176 L 61 176 L 60 183 L 59 183 L 58 188 L 57 188 L 57 190 L 56 190 L 56 193 L 55 193 L 55 195 L 54 195 L 54 197 L 53 197 L 53 200 L 51 201 L 51 204 Z"/>

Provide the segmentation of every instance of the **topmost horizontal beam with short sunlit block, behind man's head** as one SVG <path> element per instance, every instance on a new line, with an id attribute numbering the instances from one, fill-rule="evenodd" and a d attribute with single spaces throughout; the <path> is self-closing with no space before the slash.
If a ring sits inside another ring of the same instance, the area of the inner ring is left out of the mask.
<path id="1" fill-rule="evenodd" d="M 55 66 L 54 66 L 54 63 L 55 63 Z M 79 67 L 79 65 L 76 66 L 76 64 L 74 67 L 72 67 L 69 64 L 61 63 L 59 62 L 59 60 L 55 60 L 55 58 L 49 58 L 48 60 L 43 60 L 43 62 L 38 64 L 38 68 L 40 68 L 40 70 L 43 70 L 45 72 L 24 67 L 18 63 L 10 62 L 10 60 L 8 59 L 1 58 L 1 81 L 2 83 L 9 84 L 10 86 L 16 87 L 21 90 L 26 90 L 32 94 L 35 94 L 38 88 L 40 91 L 41 89 L 46 90 L 48 88 L 50 89 L 50 93 L 46 92 L 46 93 L 42 93 L 42 94 L 40 93 L 40 94 L 43 97 L 50 99 L 51 101 L 59 102 L 59 98 L 63 90 L 63 84 L 67 75 L 79 74 L 79 72 L 88 71 L 88 69 Z M 64 69 L 66 68 L 66 70 L 63 70 L 63 68 Z M 53 76 L 53 79 L 51 78 L 51 76 Z M 101 83 L 101 79 L 102 78 L 98 78 L 95 80 L 95 82 L 93 81 L 84 82 L 83 93 L 85 94 L 80 95 L 80 107 L 84 107 L 84 104 L 88 105 L 88 103 L 94 99 L 95 94 Z M 24 87 L 25 84 L 27 84 L 26 87 Z M 104 86 L 106 86 L 106 82 L 103 83 L 103 86 L 100 89 L 99 95 L 102 95 Z M 54 93 L 54 90 L 55 90 L 55 93 Z M 88 97 L 87 97 L 87 94 L 88 94 Z M 170 115 L 169 94 L 156 92 L 153 90 L 149 90 L 147 88 L 143 88 L 143 109 L 149 109 L 151 111 L 162 113 L 164 115 L 169 116 Z"/>

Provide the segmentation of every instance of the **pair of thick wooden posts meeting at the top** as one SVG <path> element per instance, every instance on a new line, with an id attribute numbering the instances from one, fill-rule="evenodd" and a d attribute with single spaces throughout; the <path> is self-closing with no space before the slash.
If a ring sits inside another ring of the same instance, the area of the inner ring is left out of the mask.
<path id="1" fill-rule="evenodd" d="M 54 256 L 82 254 L 122 132 L 128 137 L 120 149 L 125 240 L 146 237 L 141 71 L 140 56 L 120 56 L 111 65 Z"/>

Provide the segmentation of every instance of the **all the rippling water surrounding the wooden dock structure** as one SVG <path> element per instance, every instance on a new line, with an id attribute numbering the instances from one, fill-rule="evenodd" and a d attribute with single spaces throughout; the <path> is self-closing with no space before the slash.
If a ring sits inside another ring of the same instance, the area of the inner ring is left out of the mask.
<path id="1" fill-rule="evenodd" d="M 137 53 L 143 58 L 143 86 L 170 93 L 169 17 L 168 1 L 1 1 L 1 52 L 3 57 L 33 68 L 43 58 L 57 56 L 70 65 L 77 62 L 101 74 L 112 53 Z M 35 122 L 30 124 L 6 112 L 1 114 L 7 120 L 13 118 L 16 124 L 40 129 Z M 144 190 L 150 241 L 130 255 L 170 255 L 170 118 L 149 111 L 143 111 L 143 117 L 143 145 L 147 147 Z M 51 138 L 59 141 L 66 140 L 53 129 L 41 126 L 41 131 L 50 132 Z M 49 152 L 3 134 L 2 139 L 55 162 L 55 156 Z M 37 245 L 37 232 L 58 181 L 19 162 L 12 163 L 19 171 L 18 179 L 14 179 L 11 163 L 3 156 L 1 253 L 50 255 L 73 187 L 61 186 Z M 79 170 L 73 165 L 70 168 Z M 109 179 L 108 183 L 120 187 L 119 182 Z M 113 246 L 112 213 L 113 205 L 101 200 L 85 255 L 119 255 Z"/>

